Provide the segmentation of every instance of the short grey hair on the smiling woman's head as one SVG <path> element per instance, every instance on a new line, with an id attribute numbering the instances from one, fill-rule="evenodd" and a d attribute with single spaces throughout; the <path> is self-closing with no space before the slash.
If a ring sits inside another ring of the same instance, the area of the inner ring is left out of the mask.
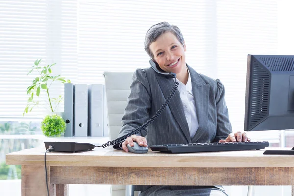
<path id="1" fill-rule="evenodd" d="M 184 46 L 184 37 L 179 27 L 177 27 L 176 25 L 170 25 L 168 22 L 157 23 L 151 26 L 145 35 L 144 49 L 150 56 L 150 58 L 154 58 L 150 50 L 151 43 L 155 42 L 159 36 L 166 32 L 172 32 L 176 36 L 178 41 Z"/>

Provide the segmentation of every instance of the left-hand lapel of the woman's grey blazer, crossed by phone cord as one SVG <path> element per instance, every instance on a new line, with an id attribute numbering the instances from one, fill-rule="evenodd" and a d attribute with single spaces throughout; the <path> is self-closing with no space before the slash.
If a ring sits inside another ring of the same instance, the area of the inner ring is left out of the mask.
<path id="1" fill-rule="evenodd" d="M 164 97 L 167 98 L 171 94 L 172 88 L 174 86 L 174 80 L 172 78 L 167 78 L 164 75 L 156 75 L 156 78 Z M 169 103 L 169 108 L 172 111 L 176 122 L 181 127 L 182 133 L 187 138 L 188 143 L 191 143 L 189 127 L 185 117 L 183 103 L 178 90 L 176 90 L 174 96 L 172 97 L 172 100 Z"/>

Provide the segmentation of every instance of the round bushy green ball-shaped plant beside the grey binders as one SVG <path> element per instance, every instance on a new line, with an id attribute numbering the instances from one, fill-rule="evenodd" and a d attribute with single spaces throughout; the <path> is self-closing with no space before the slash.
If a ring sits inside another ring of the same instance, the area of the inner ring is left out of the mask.
<path id="1" fill-rule="evenodd" d="M 61 136 L 66 128 L 65 121 L 57 114 L 47 115 L 41 122 L 41 130 L 47 137 Z"/>

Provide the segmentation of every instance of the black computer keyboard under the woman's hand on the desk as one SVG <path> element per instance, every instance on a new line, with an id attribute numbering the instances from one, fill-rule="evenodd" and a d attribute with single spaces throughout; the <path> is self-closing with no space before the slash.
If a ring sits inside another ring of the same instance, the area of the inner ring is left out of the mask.
<path id="1" fill-rule="evenodd" d="M 152 145 L 152 151 L 165 153 L 187 152 L 218 152 L 237 150 L 260 150 L 269 146 L 269 142 L 225 142 L 225 143 L 194 143 L 194 144 L 162 144 Z"/>

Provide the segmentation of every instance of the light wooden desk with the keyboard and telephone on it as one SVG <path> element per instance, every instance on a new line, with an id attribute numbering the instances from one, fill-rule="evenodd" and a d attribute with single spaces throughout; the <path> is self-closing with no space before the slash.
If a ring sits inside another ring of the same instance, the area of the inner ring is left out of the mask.
<path id="1" fill-rule="evenodd" d="M 22 165 L 22 196 L 47 196 L 44 153 L 32 148 L 6 155 L 7 164 Z M 292 185 L 294 196 L 294 156 L 262 153 L 47 152 L 50 196 L 66 196 L 67 184 Z"/>

